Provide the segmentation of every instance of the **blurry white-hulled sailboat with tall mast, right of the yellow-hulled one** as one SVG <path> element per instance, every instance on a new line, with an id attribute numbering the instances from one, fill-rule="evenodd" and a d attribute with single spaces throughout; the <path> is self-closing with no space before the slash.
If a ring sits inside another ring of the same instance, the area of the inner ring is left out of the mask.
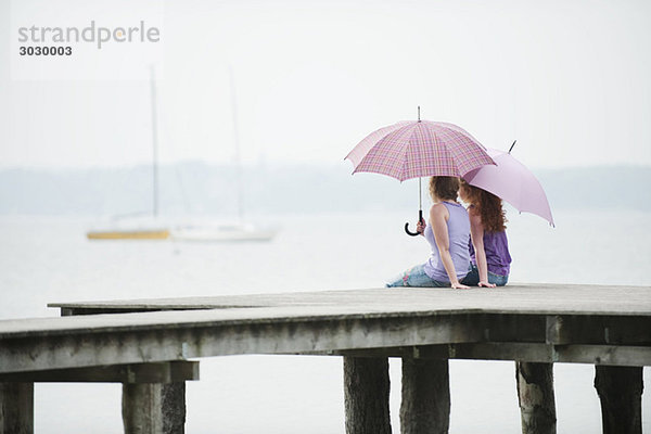
<path id="1" fill-rule="evenodd" d="M 238 221 L 229 224 L 183 225 L 171 229 L 173 240 L 179 241 L 271 241 L 278 230 L 269 226 L 260 226 L 244 220 L 242 161 L 240 156 L 240 133 L 238 129 L 238 107 L 235 85 L 232 71 L 229 69 L 231 86 L 231 106 L 233 113 L 233 139 L 235 146 L 235 183 L 238 193 Z"/>

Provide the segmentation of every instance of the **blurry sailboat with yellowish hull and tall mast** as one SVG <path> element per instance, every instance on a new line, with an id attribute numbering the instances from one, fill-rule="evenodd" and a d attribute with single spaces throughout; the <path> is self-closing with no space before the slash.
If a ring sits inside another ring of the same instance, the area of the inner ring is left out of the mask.
<path id="1" fill-rule="evenodd" d="M 152 91 L 152 146 L 153 146 L 153 201 L 151 218 L 133 218 L 127 216 L 114 217 L 106 228 L 90 230 L 86 233 L 89 240 L 166 240 L 170 231 L 166 225 L 158 219 L 158 130 L 156 116 L 156 77 L 154 66 L 151 67 L 151 91 Z"/>

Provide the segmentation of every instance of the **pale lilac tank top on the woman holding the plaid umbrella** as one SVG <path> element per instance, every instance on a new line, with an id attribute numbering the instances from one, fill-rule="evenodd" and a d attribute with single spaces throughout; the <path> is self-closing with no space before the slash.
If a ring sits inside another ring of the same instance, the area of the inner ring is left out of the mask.
<path id="1" fill-rule="evenodd" d="M 470 220 L 468 212 L 461 204 L 442 202 L 450 213 L 450 218 L 447 221 L 448 237 L 450 240 L 450 256 L 455 264 L 455 271 L 459 280 L 468 275 L 470 268 L 470 252 L 468 243 L 470 242 Z M 443 261 L 438 254 L 438 246 L 432 231 L 432 222 L 425 228 L 425 239 L 432 246 L 432 256 L 425 263 L 425 275 L 441 282 L 449 282 L 450 279 L 445 271 Z"/>

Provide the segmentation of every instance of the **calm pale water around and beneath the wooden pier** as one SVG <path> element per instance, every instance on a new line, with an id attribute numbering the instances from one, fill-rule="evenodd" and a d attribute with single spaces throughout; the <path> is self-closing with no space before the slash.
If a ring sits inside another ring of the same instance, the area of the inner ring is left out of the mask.
<path id="1" fill-rule="evenodd" d="M 380 286 L 423 261 L 401 232 L 416 213 L 271 217 L 266 244 L 88 242 L 91 221 L 0 218 L 0 318 L 56 316 L 48 302 Z M 510 213 L 511 281 L 651 285 L 650 214 L 556 213 L 557 228 Z M 651 294 L 650 294 L 651 296 Z M 392 419 L 398 430 L 399 360 Z M 600 432 L 593 368 L 554 368 L 559 433 Z M 342 360 L 231 356 L 202 359 L 188 383 L 188 433 L 343 433 Z M 644 431 L 651 374 L 644 371 Z M 451 433 L 518 433 L 512 362 L 451 361 Z M 122 432 L 120 385 L 37 384 L 36 432 Z"/>

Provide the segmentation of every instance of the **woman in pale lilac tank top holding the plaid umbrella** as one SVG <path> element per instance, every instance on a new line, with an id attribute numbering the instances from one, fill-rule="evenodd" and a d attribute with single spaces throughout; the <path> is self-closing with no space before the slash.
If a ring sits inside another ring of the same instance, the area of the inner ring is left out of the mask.
<path id="1" fill-rule="evenodd" d="M 432 177 L 430 225 L 419 221 L 418 231 L 432 247 L 425 264 L 405 271 L 386 286 L 452 286 L 468 289 L 460 281 L 470 269 L 470 222 L 468 212 L 457 202 L 459 178 Z"/>

